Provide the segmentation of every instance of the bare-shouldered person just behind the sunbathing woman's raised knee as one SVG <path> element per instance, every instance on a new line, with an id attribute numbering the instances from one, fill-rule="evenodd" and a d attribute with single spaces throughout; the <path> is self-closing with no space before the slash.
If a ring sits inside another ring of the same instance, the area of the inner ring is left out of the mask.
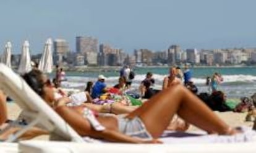
<path id="1" fill-rule="evenodd" d="M 162 89 L 166 89 L 178 84 L 182 84 L 182 82 L 176 77 L 176 68 L 171 67 L 169 68 L 169 76 L 164 77 Z"/>

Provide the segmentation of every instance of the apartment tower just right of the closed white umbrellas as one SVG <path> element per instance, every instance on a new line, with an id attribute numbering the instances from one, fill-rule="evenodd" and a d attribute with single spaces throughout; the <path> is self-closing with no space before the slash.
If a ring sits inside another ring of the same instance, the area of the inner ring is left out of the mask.
<path id="1" fill-rule="evenodd" d="M 69 51 L 69 44 L 66 39 L 55 39 L 53 41 L 53 49 L 54 64 L 62 65 Z"/>

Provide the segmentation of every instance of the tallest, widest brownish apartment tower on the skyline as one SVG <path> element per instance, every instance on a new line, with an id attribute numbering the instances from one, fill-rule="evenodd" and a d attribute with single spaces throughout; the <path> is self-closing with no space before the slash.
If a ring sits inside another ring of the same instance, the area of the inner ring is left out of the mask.
<path id="1" fill-rule="evenodd" d="M 85 64 L 97 65 L 98 39 L 91 36 L 77 36 L 75 41 L 77 53 L 85 57 Z"/>

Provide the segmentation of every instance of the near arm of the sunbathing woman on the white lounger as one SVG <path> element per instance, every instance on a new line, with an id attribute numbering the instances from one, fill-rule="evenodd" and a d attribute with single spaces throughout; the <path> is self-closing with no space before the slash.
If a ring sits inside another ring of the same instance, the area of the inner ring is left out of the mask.
<path id="1" fill-rule="evenodd" d="M 83 118 L 78 112 L 75 112 L 75 110 L 72 110 L 64 105 L 56 107 L 55 110 L 81 136 L 90 136 L 92 138 L 100 138 L 107 141 L 120 143 L 160 143 L 160 141 L 155 139 L 151 141 L 144 141 L 140 138 L 132 138 L 114 130 L 106 129 L 103 131 L 95 131 L 88 120 Z"/>

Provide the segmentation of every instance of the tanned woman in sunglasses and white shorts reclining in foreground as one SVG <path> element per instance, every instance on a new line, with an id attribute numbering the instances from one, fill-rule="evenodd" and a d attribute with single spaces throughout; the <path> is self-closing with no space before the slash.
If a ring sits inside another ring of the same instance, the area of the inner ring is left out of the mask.
<path id="1" fill-rule="evenodd" d="M 101 116 L 86 107 L 67 107 L 67 97 L 54 101 L 48 79 L 40 71 L 33 70 L 23 78 L 81 136 L 122 143 L 160 143 L 157 139 L 176 113 L 208 133 L 239 132 L 182 85 L 164 89 L 128 115 Z"/>

